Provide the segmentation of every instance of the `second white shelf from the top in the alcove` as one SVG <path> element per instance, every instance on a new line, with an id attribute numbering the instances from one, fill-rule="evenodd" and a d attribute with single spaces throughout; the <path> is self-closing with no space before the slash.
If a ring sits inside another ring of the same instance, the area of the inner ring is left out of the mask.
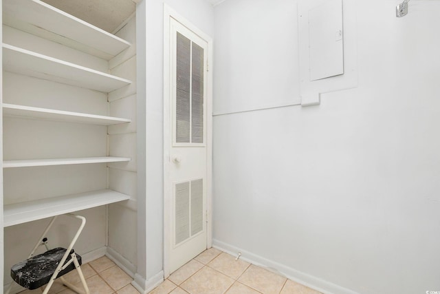
<path id="1" fill-rule="evenodd" d="M 125 78 L 5 43 L 3 43 L 3 70 L 105 93 L 132 83 Z"/>

